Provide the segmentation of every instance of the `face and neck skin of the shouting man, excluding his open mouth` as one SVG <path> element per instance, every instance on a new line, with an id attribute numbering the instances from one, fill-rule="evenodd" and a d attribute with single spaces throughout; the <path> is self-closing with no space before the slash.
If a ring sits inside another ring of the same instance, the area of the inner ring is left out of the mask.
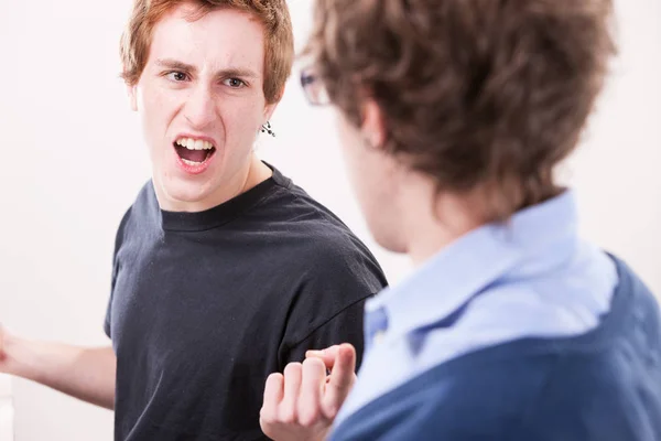
<path id="1" fill-rule="evenodd" d="M 129 87 L 159 203 L 177 212 L 212 208 L 271 175 L 253 153 L 257 133 L 275 109 L 263 95 L 262 25 L 228 9 L 191 21 L 192 11 L 184 4 L 155 26 L 144 71 Z M 214 144 L 203 173 L 178 165 L 173 143 L 182 136 Z"/>

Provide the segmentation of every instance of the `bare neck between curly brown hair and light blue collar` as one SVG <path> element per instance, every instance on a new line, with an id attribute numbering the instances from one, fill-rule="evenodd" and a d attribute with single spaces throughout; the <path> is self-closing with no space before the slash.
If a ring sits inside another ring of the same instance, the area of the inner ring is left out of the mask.
<path id="1" fill-rule="evenodd" d="M 437 194 L 431 180 L 412 175 L 401 193 L 403 246 L 419 267 L 449 244 L 484 225 L 472 214 L 468 200 L 455 194 Z"/>

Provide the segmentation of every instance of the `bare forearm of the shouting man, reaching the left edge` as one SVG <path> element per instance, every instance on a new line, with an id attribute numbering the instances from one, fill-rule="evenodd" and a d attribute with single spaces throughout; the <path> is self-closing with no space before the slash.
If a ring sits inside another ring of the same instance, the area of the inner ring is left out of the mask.
<path id="1" fill-rule="evenodd" d="M 112 347 L 85 348 L 19 338 L 0 329 L 0 372 L 112 409 L 117 358 Z"/>

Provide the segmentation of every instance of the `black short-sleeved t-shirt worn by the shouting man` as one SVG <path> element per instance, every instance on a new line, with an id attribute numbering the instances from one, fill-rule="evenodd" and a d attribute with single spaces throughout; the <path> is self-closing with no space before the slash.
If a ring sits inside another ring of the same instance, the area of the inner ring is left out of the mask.
<path id="1" fill-rule="evenodd" d="M 269 374 L 308 348 L 361 354 L 365 300 L 386 283 L 365 245 L 275 169 L 202 213 L 160 209 L 148 183 L 118 229 L 106 316 L 115 439 L 267 439 Z"/>

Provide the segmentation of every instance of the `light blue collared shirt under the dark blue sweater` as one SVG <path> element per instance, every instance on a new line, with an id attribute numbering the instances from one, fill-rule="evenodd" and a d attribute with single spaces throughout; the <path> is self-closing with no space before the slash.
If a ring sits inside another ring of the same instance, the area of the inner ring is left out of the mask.
<path id="1" fill-rule="evenodd" d="M 468 233 L 398 287 L 370 299 L 365 358 L 335 426 L 463 354 L 596 327 L 609 310 L 617 270 L 577 232 L 575 197 L 566 191 L 507 224 Z"/>

